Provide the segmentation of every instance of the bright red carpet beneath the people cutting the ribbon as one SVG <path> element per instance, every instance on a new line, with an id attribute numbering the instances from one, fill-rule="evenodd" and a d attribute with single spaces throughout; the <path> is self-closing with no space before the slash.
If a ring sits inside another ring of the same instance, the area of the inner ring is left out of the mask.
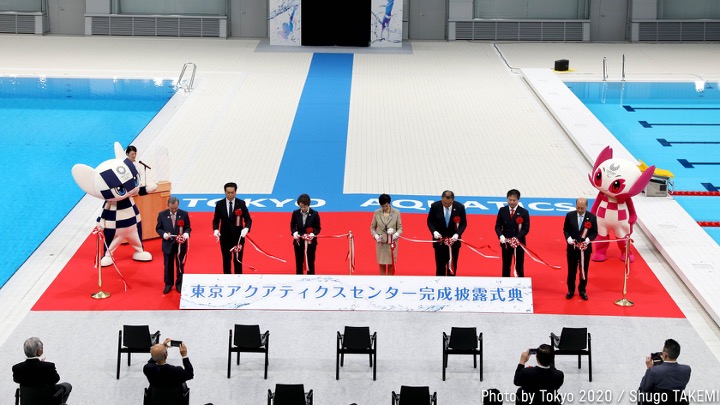
<path id="1" fill-rule="evenodd" d="M 294 257 L 289 232 L 289 213 L 254 213 L 250 237 L 268 253 L 282 257 L 287 263 L 269 259 L 246 245 L 244 271 L 257 273 L 294 274 Z M 186 265 L 187 273 L 221 273 L 219 247 L 212 236 L 212 213 L 191 213 L 192 238 Z M 374 240 L 370 237 L 370 213 L 323 213 L 321 235 L 344 234 L 352 230 L 355 238 L 355 275 L 378 274 L 375 262 Z M 403 214 L 403 236 L 428 239 L 426 214 Z M 154 219 L 153 219 L 154 220 Z M 622 298 L 623 268 L 618 259 L 619 250 L 613 245 L 610 258 L 603 263 L 591 262 L 588 283 L 589 301 L 576 295 L 565 299 L 567 274 L 565 240 L 562 234 L 563 217 L 532 218 L 532 231 L 528 247 L 547 262 L 562 266 L 555 270 L 525 259 L 525 274 L 533 279 L 534 309 L 538 314 L 613 315 L 682 318 L 683 313 L 668 295 L 645 261 L 635 253 L 632 274 L 628 283 L 627 298 L 633 307 L 619 307 L 614 301 Z M 499 247 L 493 230 L 495 215 L 469 215 L 468 228 L 463 239 L 475 246 L 490 244 L 494 251 L 485 254 L 499 256 Z M 113 267 L 103 269 L 103 290 L 112 296 L 105 300 L 90 297 L 98 291 L 97 271 L 92 267 L 94 241 L 91 238 L 78 249 L 75 256 L 53 281 L 35 304 L 36 311 L 109 311 L 109 310 L 168 310 L 178 309 L 180 295 L 173 290 L 168 295 L 163 289 L 163 258 L 160 240 L 146 241 L 145 249 L 153 254 L 153 261 L 135 262 L 132 248 L 121 246 L 115 252 L 118 267 L 130 289 L 123 291 L 123 283 Z M 345 262 L 346 239 L 321 239 L 316 260 L 316 273 L 348 274 Z M 460 276 L 500 275 L 500 259 L 486 259 L 463 247 L 459 258 Z M 433 249 L 429 244 L 401 241 L 397 276 L 433 276 L 435 274 Z"/>

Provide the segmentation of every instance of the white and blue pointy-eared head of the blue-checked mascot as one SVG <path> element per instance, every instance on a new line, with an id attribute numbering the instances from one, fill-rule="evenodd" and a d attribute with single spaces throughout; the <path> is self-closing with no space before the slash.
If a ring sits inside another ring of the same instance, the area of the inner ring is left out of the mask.
<path id="1" fill-rule="evenodd" d="M 124 200 L 139 191 L 137 169 L 118 142 L 115 142 L 115 159 L 106 160 L 95 169 L 76 164 L 72 174 L 84 192 L 105 201 Z"/>

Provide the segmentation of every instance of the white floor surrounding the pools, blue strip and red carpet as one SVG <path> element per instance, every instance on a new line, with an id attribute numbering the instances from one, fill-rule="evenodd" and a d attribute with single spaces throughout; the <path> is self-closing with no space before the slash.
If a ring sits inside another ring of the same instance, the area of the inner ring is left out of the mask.
<path id="1" fill-rule="evenodd" d="M 181 96 L 183 102 L 170 112 L 164 126 L 151 129 L 153 133 L 146 131 L 137 143 L 148 149 L 167 148 L 174 192 L 217 193 L 227 178 L 242 178 L 240 194 L 269 193 L 312 55 L 275 53 L 266 47 L 255 52 L 257 45 L 258 41 L 248 40 L 4 35 L 0 37 L 0 75 L 175 78 L 183 63 L 194 62 L 198 65 L 196 89 Z M 450 188 L 458 195 L 503 196 L 514 187 L 528 197 L 594 197 L 595 190 L 586 181 L 591 165 L 587 155 L 526 84 L 520 69 L 550 68 L 562 58 L 569 59 L 574 69 L 567 76 L 597 80 L 602 58 L 607 56 L 610 78 L 619 79 L 620 56 L 625 53 L 629 80 L 720 79 L 718 44 L 413 42 L 411 48 L 412 53 L 355 56 L 346 193 L 436 196 Z M 228 137 L 243 144 L 242 165 L 234 164 L 236 152 L 223 146 Z M 513 162 L 506 158 L 508 138 L 518 145 Z M 382 178 L 378 162 L 400 175 Z M 552 173 L 552 182 L 544 181 L 547 173 Z M 193 404 L 262 403 L 267 388 L 276 382 L 292 382 L 288 380 L 314 388 L 320 405 L 376 404 L 386 401 L 400 384 L 429 384 L 439 391 L 443 404 L 479 403 L 481 389 L 513 389 L 512 371 L 520 351 L 544 342 L 550 330 L 575 323 L 589 325 L 593 331 L 595 381 L 588 383 L 584 370 L 567 362 L 562 367 L 567 374 L 566 392 L 635 388 L 643 356 L 659 349 L 669 331 L 683 344 L 681 360 L 694 367 L 692 388 L 716 386 L 709 376 L 718 366 L 712 355 L 720 356 L 717 324 L 649 242 L 655 239 L 653 234 L 637 232 L 638 249 L 687 320 L 297 312 L 28 314 L 84 240 L 96 208 L 94 200 L 83 200 L 0 290 L 2 364 L 8 370 L 20 361 L 22 341 L 40 335 L 63 379 L 75 385 L 71 403 L 98 403 L 98 398 L 103 398 L 102 403 L 127 403 L 122 398 L 136 397 L 131 402 L 139 402 L 140 367 L 133 366 L 120 381 L 114 380 L 117 329 L 122 323 L 135 322 L 150 323 L 165 336 L 193 342 L 191 356 L 197 374 L 191 384 Z M 650 210 L 643 217 L 649 221 L 654 215 Z M 224 331 L 240 317 L 259 322 L 278 336 L 267 382 L 261 379 L 259 362 L 251 361 L 233 373 L 233 380 L 224 379 Z M 333 378 L 331 340 L 348 319 L 372 323 L 379 330 L 384 346 L 376 383 L 360 367 L 362 362 L 349 362 L 339 382 Z M 316 335 L 307 334 L 308 324 L 327 341 L 310 344 Z M 428 345 L 439 351 L 440 331 L 457 324 L 477 324 L 488 336 L 482 384 L 472 380 L 474 373 L 461 366 L 460 360 L 454 362 L 458 367 L 448 382 L 442 383 L 440 355 L 424 356 Z M 188 332 L 190 328 L 195 332 Z M 622 345 L 616 343 L 618 339 Z M 9 379 L 3 379 L 0 398 L 6 400 L 2 403 L 12 397 L 13 390 Z M 474 399 L 468 401 L 468 397 Z"/>

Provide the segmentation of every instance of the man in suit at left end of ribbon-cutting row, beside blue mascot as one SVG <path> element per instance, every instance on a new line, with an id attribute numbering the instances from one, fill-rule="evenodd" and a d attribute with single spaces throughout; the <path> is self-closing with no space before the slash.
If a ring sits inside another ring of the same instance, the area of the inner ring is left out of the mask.
<path id="1" fill-rule="evenodd" d="M 180 202 L 177 197 L 168 198 L 168 209 L 160 211 L 155 231 L 163 238 L 162 250 L 165 259 L 165 289 L 163 294 L 172 290 L 173 280 L 177 292 L 182 290 L 182 276 L 185 273 L 185 256 L 187 240 L 190 238 L 190 215 L 178 209 Z M 177 265 L 177 279 L 175 267 Z"/>

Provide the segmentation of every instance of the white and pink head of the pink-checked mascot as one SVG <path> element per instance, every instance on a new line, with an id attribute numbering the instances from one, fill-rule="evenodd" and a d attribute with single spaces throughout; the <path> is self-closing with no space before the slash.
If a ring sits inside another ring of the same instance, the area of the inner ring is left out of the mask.
<path id="1" fill-rule="evenodd" d="M 612 148 L 606 146 L 595 160 L 593 171 L 588 175 L 590 183 L 601 193 L 619 199 L 639 194 L 652 178 L 655 166 L 644 172 L 635 163 L 625 159 L 614 159 Z"/>

